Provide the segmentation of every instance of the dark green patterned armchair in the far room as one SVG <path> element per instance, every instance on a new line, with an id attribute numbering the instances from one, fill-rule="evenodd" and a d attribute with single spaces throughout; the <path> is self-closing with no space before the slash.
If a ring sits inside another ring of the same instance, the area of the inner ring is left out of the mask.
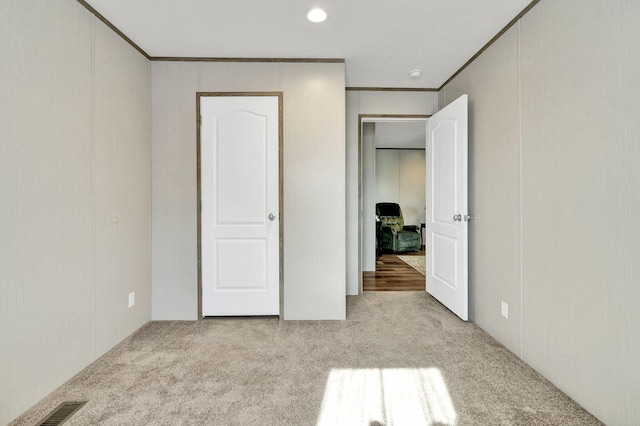
<path id="1" fill-rule="evenodd" d="M 404 225 L 402 209 L 396 203 L 376 204 L 380 219 L 382 249 L 393 253 L 420 249 L 420 229 L 417 225 Z M 380 244 L 380 241 L 378 241 Z"/>

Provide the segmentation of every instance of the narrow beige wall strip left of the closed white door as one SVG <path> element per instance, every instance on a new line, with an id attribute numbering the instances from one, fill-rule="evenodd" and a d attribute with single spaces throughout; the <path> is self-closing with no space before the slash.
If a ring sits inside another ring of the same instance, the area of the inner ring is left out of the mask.
<path id="1" fill-rule="evenodd" d="M 151 64 L 154 320 L 198 316 L 196 95 L 198 64 Z"/>

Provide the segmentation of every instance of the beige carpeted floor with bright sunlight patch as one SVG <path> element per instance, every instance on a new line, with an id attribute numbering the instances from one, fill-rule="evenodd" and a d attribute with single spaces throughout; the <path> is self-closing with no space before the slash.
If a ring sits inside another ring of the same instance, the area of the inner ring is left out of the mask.
<path id="1" fill-rule="evenodd" d="M 65 425 L 598 425 L 425 292 L 348 298 L 347 321 L 152 322 L 17 419 Z"/>

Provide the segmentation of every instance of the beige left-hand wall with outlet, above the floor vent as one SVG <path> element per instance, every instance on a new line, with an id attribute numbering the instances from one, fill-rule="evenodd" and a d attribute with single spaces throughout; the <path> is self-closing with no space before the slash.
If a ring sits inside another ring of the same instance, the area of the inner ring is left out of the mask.
<path id="1" fill-rule="evenodd" d="M 6 424 L 149 320 L 151 173 L 149 63 L 76 1 L 1 2 L 0 52 Z"/>

